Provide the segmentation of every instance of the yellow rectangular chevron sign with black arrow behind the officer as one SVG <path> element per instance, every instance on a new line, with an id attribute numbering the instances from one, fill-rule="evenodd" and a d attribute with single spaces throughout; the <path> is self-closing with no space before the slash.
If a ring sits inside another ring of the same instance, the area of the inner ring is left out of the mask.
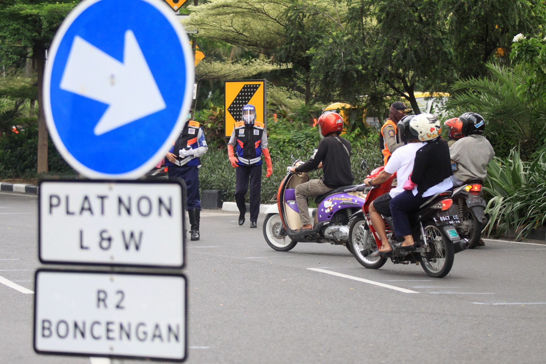
<path id="1" fill-rule="evenodd" d="M 232 135 L 235 122 L 242 120 L 242 107 L 246 104 L 256 108 L 256 122 L 265 124 L 265 99 L 265 80 L 225 81 L 224 136 Z"/>

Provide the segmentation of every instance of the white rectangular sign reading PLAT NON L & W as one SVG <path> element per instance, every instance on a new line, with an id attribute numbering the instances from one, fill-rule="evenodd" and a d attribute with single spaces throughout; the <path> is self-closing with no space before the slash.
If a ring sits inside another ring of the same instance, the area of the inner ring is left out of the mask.
<path id="1" fill-rule="evenodd" d="M 183 267 L 182 188 L 174 181 L 41 182 L 40 261 Z"/>

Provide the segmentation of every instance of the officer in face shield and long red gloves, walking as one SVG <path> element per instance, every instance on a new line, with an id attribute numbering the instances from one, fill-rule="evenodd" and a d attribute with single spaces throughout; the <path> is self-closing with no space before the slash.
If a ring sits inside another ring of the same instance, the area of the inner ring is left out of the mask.
<path id="1" fill-rule="evenodd" d="M 247 104 L 242 107 L 242 118 L 233 128 L 228 143 L 228 156 L 229 162 L 236 168 L 235 202 L 239 208 L 239 225 L 245 223 L 245 195 L 250 178 L 250 227 L 256 228 L 262 188 L 262 154 L 267 166 L 265 177 L 271 176 L 273 169 L 265 124 L 256 121 L 254 105 Z"/>

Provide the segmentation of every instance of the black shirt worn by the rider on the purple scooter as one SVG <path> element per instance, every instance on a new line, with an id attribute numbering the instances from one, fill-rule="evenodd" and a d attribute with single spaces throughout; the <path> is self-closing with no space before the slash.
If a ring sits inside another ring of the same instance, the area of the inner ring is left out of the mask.
<path id="1" fill-rule="evenodd" d="M 351 153 L 351 143 L 347 139 L 330 135 L 318 143 L 318 147 L 314 150 L 311 159 L 296 168 L 296 171 L 310 172 L 322 162 L 322 169 L 324 170 L 322 180 L 327 187 L 336 188 L 352 184 L 354 176 L 351 172 L 351 158 L 349 158 L 347 151 L 339 141 Z"/>

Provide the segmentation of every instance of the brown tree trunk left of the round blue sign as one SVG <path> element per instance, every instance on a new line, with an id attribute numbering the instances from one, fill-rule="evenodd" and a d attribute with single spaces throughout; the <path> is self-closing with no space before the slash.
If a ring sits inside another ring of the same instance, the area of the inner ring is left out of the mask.
<path id="1" fill-rule="evenodd" d="M 47 173 L 48 169 L 48 128 L 45 124 L 44 98 L 42 87 L 44 84 L 45 49 L 35 45 L 32 57 L 36 60 L 38 73 L 38 173 Z"/>

